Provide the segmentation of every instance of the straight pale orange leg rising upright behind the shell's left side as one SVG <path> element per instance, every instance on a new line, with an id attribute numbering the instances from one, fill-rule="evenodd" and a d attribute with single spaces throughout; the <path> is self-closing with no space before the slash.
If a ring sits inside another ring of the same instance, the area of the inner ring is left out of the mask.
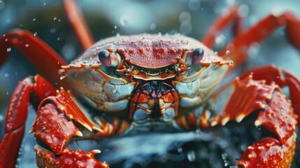
<path id="1" fill-rule="evenodd" d="M 90 29 L 87 27 L 87 23 L 83 19 L 83 15 L 80 12 L 76 0 L 63 0 L 64 10 L 66 11 L 66 16 L 71 22 L 71 25 L 79 38 L 81 45 L 84 50 L 90 48 L 94 44 L 94 39 Z"/>

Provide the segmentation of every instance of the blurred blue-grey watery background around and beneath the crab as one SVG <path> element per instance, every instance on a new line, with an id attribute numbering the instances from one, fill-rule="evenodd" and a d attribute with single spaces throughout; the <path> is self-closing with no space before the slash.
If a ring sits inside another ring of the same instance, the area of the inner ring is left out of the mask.
<path id="1" fill-rule="evenodd" d="M 278 15 L 285 10 L 300 18 L 299 0 L 78 0 L 78 3 L 96 41 L 108 36 L 143 33 L 179 33 L 201 39 L 217 15 L 234 3 L 241 4 L 245 28 L 269 13 Z M 5 34 L 9 29 L 27 29 L 42 38 L 67 62 L 83 52 L 59 0 L 0 0 L 0 22 L 0 34 Z M 280 27 L 262 44 L 253 45 L 249 59 L 236 74 L 255 66 L 276 64 L 300 78 L 300 53 L 287 41 L 284 28 Z M 220 50 L 232 38 L 231 29 L 224 30 L 217 36 L 213 49 Z M 17 81 L 38 73 L 15 48 L 8 48 L 8 52 L 10 57 L 0 68 L 0 137 L 3 137 L 3 120 Z M 34 111 L 30 110 L 30 114 L 34 116 Z M 29 117 L 28 127 L 33 121 L 34 117 Z M 241 151 L 256 137 L 257 133 L 247 137 L 246 128 L 220 127 L 208 134 L 201 130 L 143 134 L 139 137 L 106 139 L 93 146 L 98 146 L 102 151 L 99 160 L 110 162 L 112 167 L 231 167 Z M 18 158 L 19 167 L 36 167 L 32 150 L 34 144 L 33 134 L 26 134 Z M 296 156 L 292 167 L 299 167 L 299 162 Z"/>

